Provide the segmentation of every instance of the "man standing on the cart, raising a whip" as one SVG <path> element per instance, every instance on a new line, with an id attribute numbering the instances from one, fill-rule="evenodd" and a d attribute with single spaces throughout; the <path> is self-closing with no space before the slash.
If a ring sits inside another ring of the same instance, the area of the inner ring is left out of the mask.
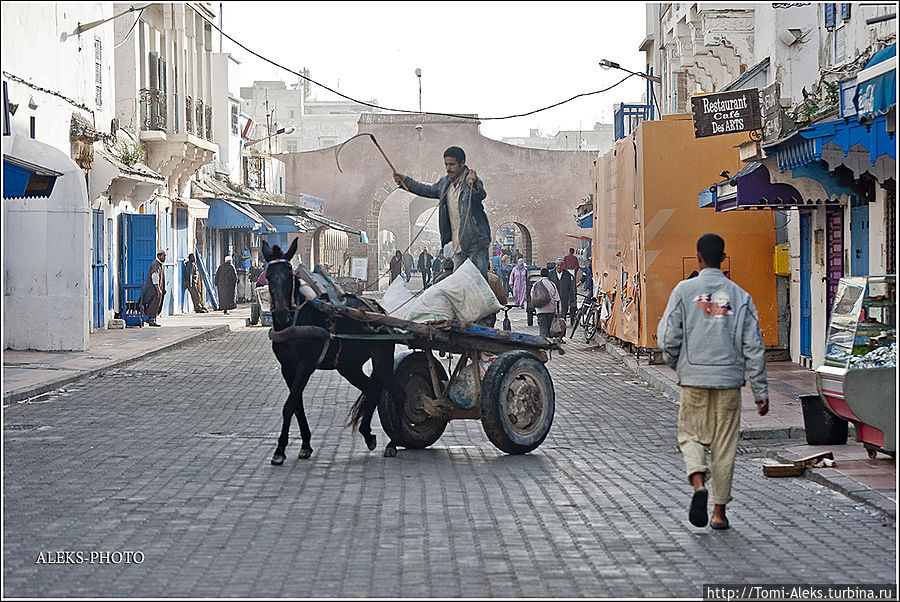
<path id="1" fill-rule="evenodd" d="M 487 280 L 491 266 L 491 227 L 482 201 L 487 197 L 484 183 L 466 167 L 466 153 L 458 146 L 444 151 L 447 175 L 434 184 L 422 184 L 394 173 L 394 181 L 419 196 L 438 199 L 441 246 L 453 241 L 453 268 L 471 259 Z"/>

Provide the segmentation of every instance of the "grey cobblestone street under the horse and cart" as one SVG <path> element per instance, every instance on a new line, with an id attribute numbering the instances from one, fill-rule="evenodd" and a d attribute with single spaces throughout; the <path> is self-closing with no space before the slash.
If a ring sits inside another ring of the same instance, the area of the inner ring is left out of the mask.
<path id="1" fill-rule="evenodd" d="M 512 312 L 514 329 L 527 327 Z M 245 328 L 5 408 L 6 597 L 702 597 L 712 583 L 894 583 L 893 525 L 742 441 L 730 531 L 687 520 L 677 405 L 576 336 L 548 367 L 533 453 L 477 421 L 426 450 L 343 427 L 357 392 L 319 371 L 311 459 L 271 466 L 286 388 Z M 398 348 L 398 351 L 400 348 Z M 83 563 L 51 564 L 56 552 Z M 141 563 L 92 564 L 134 551 Z"/>

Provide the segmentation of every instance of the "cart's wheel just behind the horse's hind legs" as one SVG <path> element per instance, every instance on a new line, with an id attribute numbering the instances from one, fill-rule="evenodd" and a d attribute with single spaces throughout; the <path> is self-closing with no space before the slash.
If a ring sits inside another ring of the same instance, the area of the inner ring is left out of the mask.
<path id="1" fill-rule="evenodd" d="M 447 383 L 447 372 L 435 362 L 438 380 Z M 424 397 L 437 397 L 431 386 L 428 359 L 422 352 L 407 351 L 394 358 L 394 376 L 406 393 L 403 407 L 385 389 L 378 401 L 381 428 L 395 443 L 408 449 L 433 445 L 444 434 L 448 420 L 428 416 L 422 410 Z"/>

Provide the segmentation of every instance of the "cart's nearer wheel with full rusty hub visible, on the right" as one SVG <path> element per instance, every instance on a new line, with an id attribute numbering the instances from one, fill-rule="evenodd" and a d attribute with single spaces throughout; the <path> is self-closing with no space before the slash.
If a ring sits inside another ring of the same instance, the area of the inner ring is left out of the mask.
<path id="1" fill-rule="evenodd" d="M 481 426 L 498 449 L 526 454 L 544 441 L 556 407 L 553 382 L 527 351 L 508 351 L 491 363 L 481 393 Z"/>

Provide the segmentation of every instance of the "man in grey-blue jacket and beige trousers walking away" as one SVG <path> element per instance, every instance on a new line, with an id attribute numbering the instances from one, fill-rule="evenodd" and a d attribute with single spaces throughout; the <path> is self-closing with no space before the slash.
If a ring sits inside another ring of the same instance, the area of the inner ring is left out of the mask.
<path id="1" fill-rule="evenodd" d="M 725 241 L 720 236 L 700 237 L 700 273 L 675 286 L 657 331 L 663 357 L 675 368 L 681 385 L 678 445 L 694 487 L 688 519 L 697 527 L 706 526 L 706 504 L 712 498 L 710 526 L 717 530 L 729 527 L 725 505 L 732 499 L 745 370 L 756 410 L 760 416 L 769 411 L 765 345 L 756 306 L 719 269 L 724 257 Z"/>

